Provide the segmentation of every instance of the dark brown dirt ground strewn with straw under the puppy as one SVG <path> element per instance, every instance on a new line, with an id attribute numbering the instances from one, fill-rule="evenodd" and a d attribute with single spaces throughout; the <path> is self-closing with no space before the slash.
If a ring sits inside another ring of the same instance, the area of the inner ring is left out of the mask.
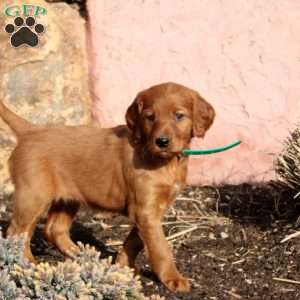
<path id="1" fill-rule="evenodd" d="M 0 226 L 4 228 L 10 206 L 9 200 L 0 201 Z M 164 223 L 178 268 L 190 278 L 192 291 L 168 292 L 142 254 L 138 265 L 144 292 L 172 300 L 300 299 L 300 237 L 280 242 L 300 230 L 299 216 L 300 203 L 272 184 L 189 187 Z M 32 243 L 34 254 L 41 261 L 62 260 L 43 239 L 42 228 L 40 224 Z M 83 211 L 72 236 L 96 246 L 107 257 L 115 256 L 129 230 L 123 217 L 100 219 L 95 212 Z"/>

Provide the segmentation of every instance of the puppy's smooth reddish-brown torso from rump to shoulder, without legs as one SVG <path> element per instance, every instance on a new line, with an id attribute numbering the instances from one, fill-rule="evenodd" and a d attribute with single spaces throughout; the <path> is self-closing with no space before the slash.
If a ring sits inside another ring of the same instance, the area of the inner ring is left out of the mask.
<path id="1" fill-rule="evenodd" d="M 101 196 L 113 209 L 120 207 L 117 199 L 126 197 L 121 157 L 128 147 L 126 126 L 47 127 L 19 138 L 10 172 L 16 185 L 35 180 L 36 188 L 48 190 L 54 199 L 88 199 L 98 206 Z"/>

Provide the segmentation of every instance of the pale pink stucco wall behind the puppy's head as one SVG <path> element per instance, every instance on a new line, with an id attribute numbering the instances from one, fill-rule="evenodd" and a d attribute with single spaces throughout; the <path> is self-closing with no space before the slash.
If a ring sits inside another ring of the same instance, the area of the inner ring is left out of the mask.
<path id="1" fill-rule="evenodd" d="M 189 183 L 273 178 L 272 160 L 300 116 L 300 1 L 89 0 L 95 115 L 124 123 L 136 93 L 175 81 L 198 90 L 216 121 L 194 148 Z"/>

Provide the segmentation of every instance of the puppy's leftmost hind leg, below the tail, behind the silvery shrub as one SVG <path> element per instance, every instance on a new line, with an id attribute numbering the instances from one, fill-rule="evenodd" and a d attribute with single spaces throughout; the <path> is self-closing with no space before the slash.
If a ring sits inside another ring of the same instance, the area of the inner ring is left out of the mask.
<path id="1" fill-rule="evenodd" d="M 33 263 L 36 261 L 30 249 L 30 241 L 37 222 L 47 212 L 51 203 L 41 197 L 25 185 L 16 189 L 13 195 L 13 215 L 7 230 L 8 237 L 26 234 L 24 255 Z"/>

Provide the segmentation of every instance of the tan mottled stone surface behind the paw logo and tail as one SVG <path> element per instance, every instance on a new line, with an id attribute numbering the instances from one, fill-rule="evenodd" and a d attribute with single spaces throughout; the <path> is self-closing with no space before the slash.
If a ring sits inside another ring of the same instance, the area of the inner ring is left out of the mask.
<path id="1" fill-rule="evenodd" d="M 22 0 L 2 1 L 0 11 L 23 3 Z M 35 5 L 47 9 L 46 15 L 36 18 L 45 26 L 45 32 L 35 48 L 26 45 L 13 48 L 4 27 L 13 24 L 14 17 L 0 17 L 0 99 L 33 123 L 87 123 L 91 119 L 91 98 L 85 22 L 67 4 L 35 0 Z M 1 120 L 1 191 L 12 190 L 7 160 L 15 144 L 14 135 Z"/>

